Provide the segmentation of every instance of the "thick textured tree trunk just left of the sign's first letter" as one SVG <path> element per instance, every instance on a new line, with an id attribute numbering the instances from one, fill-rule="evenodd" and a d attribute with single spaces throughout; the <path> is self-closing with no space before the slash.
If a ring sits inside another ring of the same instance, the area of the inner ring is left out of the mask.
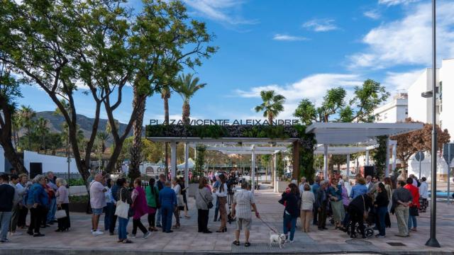
<path id="1" fill-rule="evenodd" d="M 134 87 L 134 101 L 133 107 L 138 103 L 140 105 L 138 108 L 137 118 L 133 124 L 133 145 L 131 146 L 131 164 L 129 164 L 129 177 L 131 180 L 134 180 L 140 177 L 140 152 L 142 150 L 142 125 L 143 125 L 143 115 L 145 113 L 145 100 L 140 101 L 140 95 L 138 94 L 137 88 Z"/>

